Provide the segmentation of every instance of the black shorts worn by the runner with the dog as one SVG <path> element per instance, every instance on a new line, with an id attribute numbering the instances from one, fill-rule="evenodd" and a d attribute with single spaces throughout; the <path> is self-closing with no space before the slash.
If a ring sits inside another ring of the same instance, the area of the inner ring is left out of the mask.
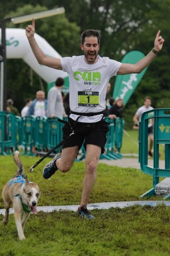
<path id="1" fill-rule="evenodd" d="M 84 142 L 84 148 L 86 149 L 87 144 L 92 144 L 101 147 L 102 153 L 104 153 L 104 146 L 106 144 L 106 134 L 109 131 L 108 124 L 105 119 L 96 122 L 96 123 L 81 123 L 69 118 L 71 127 L 74 127 L 75 134 L 71 135 L 64 143 L 63 148 L 79 146 L 79 149 L 82 147 Z M 74 126 L 75 124 L 75 126 Z M 63 130 L 63 140 L 67 138 L 72 129 L 69 127 L 69 124 L 65 124 L 62 128 Z"/>

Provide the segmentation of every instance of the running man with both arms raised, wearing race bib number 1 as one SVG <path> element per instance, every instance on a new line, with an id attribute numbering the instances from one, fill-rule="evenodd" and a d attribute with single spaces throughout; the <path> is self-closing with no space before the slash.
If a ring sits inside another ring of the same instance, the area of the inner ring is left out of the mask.
<path id="1" fill-rule="evenodd" d="M 39 64 L 63 70 L 68 73 L 70 81 L 70 117 L 63 127 L 64 140 L 62 153 L 44 166 L 43 177 L 50 178 L 56 170 L 68 172 L 79 148 L 86 148 L 86 173 L 83 181 L 83 192 L 78 214 L 82 218 L 94 219 L 87 210 L 87 203 L 96 180 L 96 170 L 100 154 L 104 152 L 108 125 L 103 112 L 106 108 L 107 84 L 112 76 L 140 73 L 151 63 L 162 49 L 164 39 L 158 31 L 154 48 L 136 64 L 120 63 L 108 57 L 98 55 L 100 32 L 86 30 L 81 35 L 80 47 L 82 56 L 54 58 L 44 54 L 35 38 L 35 20 L 26 28 L 26 36 Z M 73 133 L 74 131 L 74 133 Z"/>

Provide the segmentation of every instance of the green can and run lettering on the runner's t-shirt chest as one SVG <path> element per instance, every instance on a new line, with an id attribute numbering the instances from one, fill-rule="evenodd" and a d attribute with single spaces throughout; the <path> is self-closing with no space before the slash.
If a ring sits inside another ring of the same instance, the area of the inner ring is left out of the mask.
<path id="1" fill-rule="evenodd" d="M 80 71 L 75 71 L 74 72 L 74 78 L 76 81 L 79 81 L 80 78 L 82 78 L 84 81 L 92 81 L 92 85 L 98 85 L 100 84 L 99 81 L 101 81 L 101 74 L 100 72 L 80 72 Z M 88 82 L 84 82 L 84 84 L 88 84 Z"/>

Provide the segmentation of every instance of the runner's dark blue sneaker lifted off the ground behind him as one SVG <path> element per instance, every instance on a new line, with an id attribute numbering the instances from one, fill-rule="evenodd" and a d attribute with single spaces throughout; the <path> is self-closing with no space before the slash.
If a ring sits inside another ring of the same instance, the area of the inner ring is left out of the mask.
<path id="1" fill-rule="evenodd" d="M 48 179 L 50 178 L 55 172 L 56 170 L 58 170 L 55 161 L 59 158 L 61 158 L 62 153 L 58 153 L 55 155 L 55 157 L 53 158 L 52 161 L 48 162 L 43 169 L 43 177 L 44 179 Z"/>

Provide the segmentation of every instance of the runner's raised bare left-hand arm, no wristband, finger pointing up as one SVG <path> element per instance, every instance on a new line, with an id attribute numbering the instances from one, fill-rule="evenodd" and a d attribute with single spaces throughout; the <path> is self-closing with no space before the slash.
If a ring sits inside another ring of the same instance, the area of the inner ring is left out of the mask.
<path id="1" fill-rule="evenodd" d="M 47 57 L 46 54 L 39 48 L 35 38 L 35 19 L 32 19 L 32 25 L 28 25 L 25 30 L 32 52 L 35 55 L 39 64 L 46 65 L 51 68 L 62 70 L 61 61 L 59 58 Z"/>

